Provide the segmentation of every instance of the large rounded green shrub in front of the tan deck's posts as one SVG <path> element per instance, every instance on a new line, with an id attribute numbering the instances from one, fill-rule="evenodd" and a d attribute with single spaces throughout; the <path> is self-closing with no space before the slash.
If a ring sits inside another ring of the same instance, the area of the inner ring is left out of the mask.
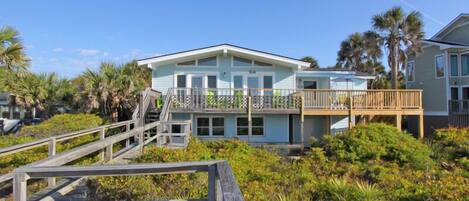
<path id="1" fill-rule="evenodd" d="M 324 137 L 329 156 L 349 162 L 396 161 L 416 168 L 433 164 L 431 150 L 410 134 L 386 124 L 359 125 L 345 133 Z"/>

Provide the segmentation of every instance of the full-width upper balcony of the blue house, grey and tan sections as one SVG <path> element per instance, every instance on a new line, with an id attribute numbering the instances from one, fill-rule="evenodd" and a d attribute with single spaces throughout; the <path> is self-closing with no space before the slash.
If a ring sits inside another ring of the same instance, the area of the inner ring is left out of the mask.
<path id="1" fill-rule="evenodd" d="M 174 88 L 174 112 L 305 115 L 418 115 L 421 90 L 302 90 Z"/>

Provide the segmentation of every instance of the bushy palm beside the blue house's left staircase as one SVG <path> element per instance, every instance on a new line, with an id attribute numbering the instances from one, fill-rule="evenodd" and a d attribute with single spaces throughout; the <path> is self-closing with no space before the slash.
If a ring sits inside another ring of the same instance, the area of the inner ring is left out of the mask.
<path id="1" fill-rule="evenodd" d="M 87 100 L 88 111 L 97 109 L 112 121 L 127 119 L 138 102 L 138 94 L 149 86 L 150 73 L 136 62 L 124 65 L 102 63 L 98 71 L 87 70 L 77 80 L 83 87 L 81 97 Z"/>

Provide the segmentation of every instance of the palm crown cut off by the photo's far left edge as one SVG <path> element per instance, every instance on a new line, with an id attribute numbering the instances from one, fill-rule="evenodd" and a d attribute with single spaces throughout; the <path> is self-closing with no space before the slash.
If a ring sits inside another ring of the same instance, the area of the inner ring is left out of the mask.
<path id="1" fill-rule="evenodd" d="M 9 26 L 0 29 L 0 66 L 17 72 L 24 72 L 29 66 L 19 32 Z"/>

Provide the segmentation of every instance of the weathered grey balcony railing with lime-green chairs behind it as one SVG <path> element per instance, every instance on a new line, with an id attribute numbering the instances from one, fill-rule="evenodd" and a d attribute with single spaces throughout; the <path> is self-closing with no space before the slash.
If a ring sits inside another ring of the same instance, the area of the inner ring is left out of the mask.
<path id="1" fill-rule="evenodd" d="M 299 109 L 301 98 L 294 89 L 170 89 L 171 109 L 188 111 L 242 111 Z"/>

